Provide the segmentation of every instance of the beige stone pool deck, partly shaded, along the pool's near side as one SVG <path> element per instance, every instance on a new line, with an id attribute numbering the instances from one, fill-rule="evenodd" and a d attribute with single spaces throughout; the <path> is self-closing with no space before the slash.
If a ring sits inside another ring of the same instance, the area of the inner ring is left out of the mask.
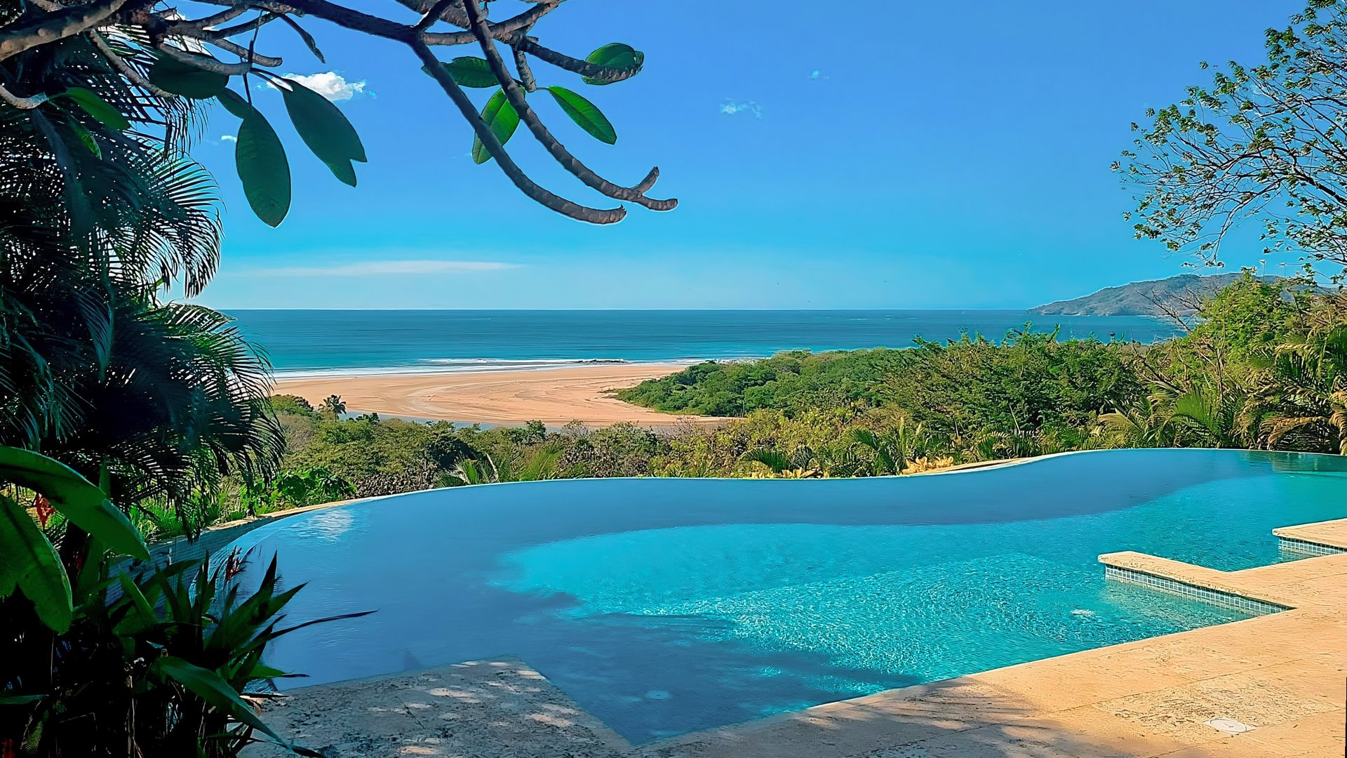
<path id="1" fill-rule="evenodd" d="M 299 689 L 265 718 L 333 758 L 1340 757 L 1347 519 L 1274 534 L 1327 554 L 1235 572 L 1142 553 L 1099 560 L 1156 587 L 1285 611 L 641 746 L 515 658 Z M 1251 728 L 1227 734 L 1215 719 Z"/>

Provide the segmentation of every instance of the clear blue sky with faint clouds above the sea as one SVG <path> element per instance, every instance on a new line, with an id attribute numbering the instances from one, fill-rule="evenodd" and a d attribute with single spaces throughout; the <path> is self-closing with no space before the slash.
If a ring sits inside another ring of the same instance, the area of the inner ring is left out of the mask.
<path id="1" fill-rule="evenodd" d="M 361 5 L 364 7 L 364 5 Z M 524 4 L 492 3 L 505 18 Z M 537 65 L 541 85 L 593 100 L 606 146 L 548 101 L 537 111 L 582 159 L 652 196 L 593 227 L 519 194 L 395 43 L 304 24 L 319 63 L 280 24 L 259 51 L 283 71 L 329 74 L 369 163 L 337 182 L 294 135 L 275 93 L 255 100 L 287 140 L 295 182 L 276 229 L 248 209 L 233 173 L 237 128 L 213 115 L 195 151 L 225 198 L 216 308 L 1028 308 L 1183 272 L 1183 256 L 1137 241 L 1109 165 L 1146 107 L 1210 81 L 1199 61 L 1258 61 L 1262 31 L 1300 1 L 1109 3 L 586 0 L 535 28 L 583 55 L 607 42 L 645 53 L 612 86 Z M 379 3 L 391 12 L 392 3 Z M 369 9 L 374 9 L 370 4 Z M 408 19 L 414 19 L 408 13 Z M 474 49 L 440 49 L 442 59 Z M 343 89 L 345 82 L 346 89 Z M 358 92 L 357 92 L 358 90 Z M 470 90 L 481 104 L 490 90 Z M 269 96 L 269 97 L 268 97 Z M 512 154 L 544 186 L 605 200 L 520 129 Z M 1257 240 L 1227 266 L 1259 258 Z"/>

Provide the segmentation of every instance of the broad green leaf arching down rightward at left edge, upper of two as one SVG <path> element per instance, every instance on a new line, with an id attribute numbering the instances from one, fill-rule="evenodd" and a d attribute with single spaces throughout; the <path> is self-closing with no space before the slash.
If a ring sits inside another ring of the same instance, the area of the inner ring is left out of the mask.
<path id="1" fill-rule="evenodd" d="M 42 492 L 54 508 L 108 548 L 150 560 L 150 550 L 127 514 L 69 465 L 30 450 L 0 448 L 0 482 Z"/>

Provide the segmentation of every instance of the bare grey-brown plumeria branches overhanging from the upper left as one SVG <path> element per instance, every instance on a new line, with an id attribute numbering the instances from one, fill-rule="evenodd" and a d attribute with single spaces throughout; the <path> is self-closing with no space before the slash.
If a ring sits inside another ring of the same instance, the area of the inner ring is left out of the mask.
<path id="1" fill-rule="evenodd" d="M 420 20 L 412 24 L 357 11 L 331 0 L 202 0 L 224 8 L 197 19 L 180 18 L 178 11 L 171 8 L 152 7 L 152 0 L 92 0 L 78 5 L 73 4 L 73 0 L 30 1 L 32 5 L 28 13 L 9 26 L 0 27 L 0 61 L 42 45 L 82 35 L 132 86 L 156 97 L 172 96 L 123 59 L 108 43 L 102 30 L 120 30 L 119 39 L 124 34 L 125 38 L 136 40 L 136 45 L 156 50 L 179 63 L 225 76 L 265 73 L 282 65 L 282 58 L 264 55 L 253 49 L 257 31 L 277 19 L 298 28 L 295 18 L 317 18 L 369 36 L 405 45 L 471 127 L 486 154 L 497 162 L 520 192 L 546 208 L 582 221 L 610 224 L 621 220 L 626 213 L 624 208 L 586 206 L 533 182 L 505 151 L 501 139 L 454 81 L 454 76 L 445 70 L 431 53 L 432 47 L 477 45 L 519 119 L 558 165 L 586 186 L 613 200 L 636 202 L 652 210 L 669 210 L 678 205 L 676 200 L 645 196 L 659 178 L 659 169 L 652 169 L 634 186 L 610 182 L 572 155 L 529 107 L 527 93 L 539 89 L 529 58 L 601 84 L 622 81 L 640 70 L 638 61 L 624 66 L 606 66 L 552 50 L 539 43 L 535 36 L 529 36 L 533 24 L 555 11 L 563 0 L 529 0 L 528 9 L 496 23 L 486 19 L 478 0 L 397 0 L 405 8 L 422 15 Z M 257 16 L 233 26 L 222 26 L 248 12 L 256 12 Z M 435 27 L 440 24 L 457 28 L 436 30 Z M 249 35 L 248 39 L 233 40 L 245 34 Z M 303 30 L 300 34 L 317 53 L 313 38 Z M 241 45 L 242 42 L 247 45 Z M 516 81 L 505 67 L 497 43 L 511 49 L 520 81 Z M 211 46 L 237 57 L 238 61 L 226 62 L 205 55 L 202 46 Z M 22 80 L 15 84 L 22 85 Z M 13 108 L 38 108 L 50 97 L 51 93 L 20 97 L 9 89 L 0 88 L 0 101 Z"/>

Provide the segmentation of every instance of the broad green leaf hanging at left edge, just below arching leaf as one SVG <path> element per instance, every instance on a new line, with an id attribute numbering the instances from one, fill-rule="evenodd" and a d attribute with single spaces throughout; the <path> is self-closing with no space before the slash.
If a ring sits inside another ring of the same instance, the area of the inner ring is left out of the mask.
<path id="1" fill-rule="evenodd" d="M 0 597 L 23 591 L 42 623 L 57 633 L 70 629 L 74 615 L 70 579 L 47 535 L 28 511 L 0 495 Z"/>

